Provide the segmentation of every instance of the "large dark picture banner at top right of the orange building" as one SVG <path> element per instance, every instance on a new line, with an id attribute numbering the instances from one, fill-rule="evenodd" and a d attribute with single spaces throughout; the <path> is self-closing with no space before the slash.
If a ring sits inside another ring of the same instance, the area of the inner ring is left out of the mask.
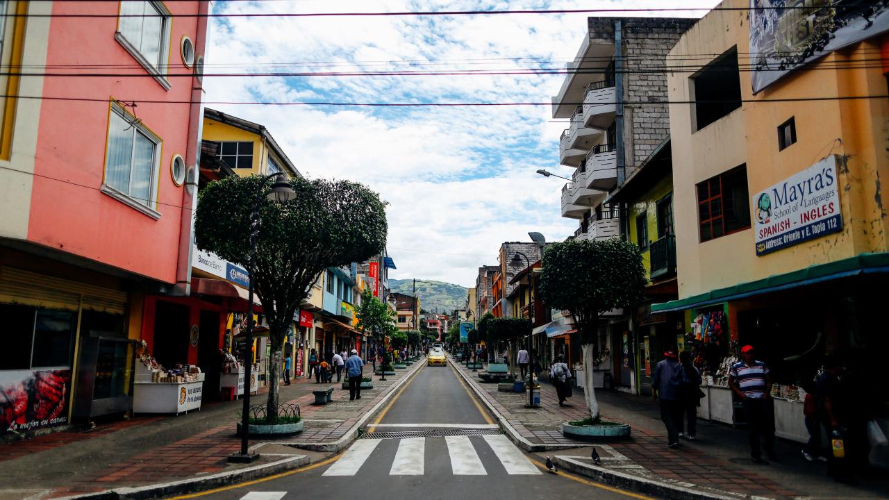
<path id="1" fill-rule="evenodd" d="M 821 56 L 889 29 L 889 4 L 750 0 L 753 93 Z"/>

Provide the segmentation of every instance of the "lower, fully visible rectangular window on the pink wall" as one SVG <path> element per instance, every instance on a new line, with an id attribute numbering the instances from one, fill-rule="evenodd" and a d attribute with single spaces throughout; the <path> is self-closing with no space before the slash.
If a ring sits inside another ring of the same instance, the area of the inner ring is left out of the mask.
<path id="1" fill-rule="evenodd" d="M 161 140 L 119 104 L 111 106 L 108 157 L 102 190 L 125 203 L 148 207 L 154 213 Z M 108 190 L 107 188 L 110 188 Z M 141 208 L 140 208 L 141 210 Z M 144 212 L 144 210 L 143 210 Z"/>

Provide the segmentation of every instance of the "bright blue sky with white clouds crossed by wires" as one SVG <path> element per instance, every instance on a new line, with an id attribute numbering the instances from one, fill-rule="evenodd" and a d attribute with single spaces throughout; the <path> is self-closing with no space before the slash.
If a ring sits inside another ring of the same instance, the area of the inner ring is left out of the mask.
<path id="1" fill-rule="evenodd" d="M 702 7 L 715 0 L 217 2 L 214 13 Z M 675 13 L 700 17 L 703 12 Z M 220 73 L 564 69 L 589 14 L 213 18 L 206 101 L 265 125 L 308 178 L 360 181 L 388 202 L 389 278 L 475 286 L 504 241 L 572 235 L 561 217 L 565 123 L 551 107 L 255 106 L 274 102 L 541 102 L 565 75 L 210 77 Z M 634 13 L 634 16 L 649 15 Z M 661 14 L 667 15 L 667 14 Z"/>

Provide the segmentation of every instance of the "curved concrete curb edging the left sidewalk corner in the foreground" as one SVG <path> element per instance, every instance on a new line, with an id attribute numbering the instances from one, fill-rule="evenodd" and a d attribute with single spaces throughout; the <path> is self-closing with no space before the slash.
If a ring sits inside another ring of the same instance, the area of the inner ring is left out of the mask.
<path id="1" fill-rule="evenodd" d="M 56 500 L 142 500 L 160 496 L 180 495 L 212 488 L 220 488 L 243 481 L 255 480 L 279 472 L 299 469 L 311 462 L 308 456 L 284 458 L 269 464 L 252 465 L 229 472 L 217 472 L 199 478 L 151 484 L 140 487 L 113 488 L 98 493 L 64 496 Z"/>

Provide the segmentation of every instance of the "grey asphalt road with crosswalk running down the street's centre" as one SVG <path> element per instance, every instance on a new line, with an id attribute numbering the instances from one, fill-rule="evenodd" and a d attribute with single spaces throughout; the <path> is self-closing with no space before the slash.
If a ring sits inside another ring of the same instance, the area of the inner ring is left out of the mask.
<path id="1" fill-rule="evenodd" d="M 450 363 L 451 360 L 448 359 Z M 639 498 L 544 472 L 470 397 L 451 367 L 421 367 L 368 426 L 331 460 L 273 480 L 200 496 L 212 500 L 362 498 L 484 500 Z M 568 453 L 570 455 L 570 453 Z"/>

